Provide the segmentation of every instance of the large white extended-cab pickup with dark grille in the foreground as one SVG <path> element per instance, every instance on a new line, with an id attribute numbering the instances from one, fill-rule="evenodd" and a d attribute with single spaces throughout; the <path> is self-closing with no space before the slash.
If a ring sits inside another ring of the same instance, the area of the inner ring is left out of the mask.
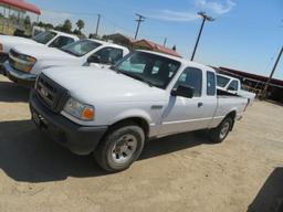
<path id="1" fill-rule="evenodd" d="M 52 67 L 30 94 L 34 124 L 111 172 L 127 169 L 150 138 L 208 129 L 222 141 L 248 99 L 219 96 L 213 68 L 135 51 L 111 68 Z M 161 145 L 161 144 L 160 144 Z"/>

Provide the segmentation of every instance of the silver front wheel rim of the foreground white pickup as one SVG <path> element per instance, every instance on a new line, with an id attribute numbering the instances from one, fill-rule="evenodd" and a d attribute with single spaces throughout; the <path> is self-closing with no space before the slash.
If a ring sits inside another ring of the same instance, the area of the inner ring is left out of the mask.
<path id="1" fill-rule="evenodd" d="M 137 139 L 133 135 L 122 136 L 112 149 L 112 160 L 116 163 L 129 161 L 137 149 Z"/>

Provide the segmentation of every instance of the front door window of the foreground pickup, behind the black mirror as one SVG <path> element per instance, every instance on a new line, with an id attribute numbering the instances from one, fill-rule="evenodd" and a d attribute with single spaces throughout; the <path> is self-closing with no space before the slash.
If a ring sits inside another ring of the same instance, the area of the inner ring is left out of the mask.
<path id="1" fill-rule="evenodd" d="M 196 67 L 185 68 L 175 87 L 179 85 L 193 87 L 193 97 L 201 96 L 202 71 Z"/>

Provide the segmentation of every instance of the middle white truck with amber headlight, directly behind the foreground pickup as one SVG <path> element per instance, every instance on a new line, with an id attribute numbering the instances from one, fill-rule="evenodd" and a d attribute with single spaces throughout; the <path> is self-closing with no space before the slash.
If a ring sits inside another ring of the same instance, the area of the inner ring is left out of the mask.
<path id="1" fill-rule="evenodd" d="M 10 51 L 3 70 L 11 81 L 31 86 L 44 68 L 65 65 L 109 67 L 128 53 L 122 45 L 88 39 L 57 49 L 18 46 Z"/>

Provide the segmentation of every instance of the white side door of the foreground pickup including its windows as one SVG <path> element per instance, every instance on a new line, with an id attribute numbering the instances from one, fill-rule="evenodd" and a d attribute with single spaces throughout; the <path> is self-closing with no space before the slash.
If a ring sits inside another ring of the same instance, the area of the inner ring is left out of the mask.
<path id="1" fill-rule="evenodd" d="M 217 105 L 214 94 L 216 76 L 214 73 L 211 72 L 213 74 L 212 84 L 202 83 L 207 82 L 207 75 L 203 75 L 203 73 L 206 72 L 196 67 L 185 68 L 175 87 L 178 85 L 193 87 L 193 97 L 169 97 L 169 104 L 163 115 L 160 135 L 192 131 L 208 127 Z M 214 87 L 213 96 L 207 97 L 207 86 Z"/>

